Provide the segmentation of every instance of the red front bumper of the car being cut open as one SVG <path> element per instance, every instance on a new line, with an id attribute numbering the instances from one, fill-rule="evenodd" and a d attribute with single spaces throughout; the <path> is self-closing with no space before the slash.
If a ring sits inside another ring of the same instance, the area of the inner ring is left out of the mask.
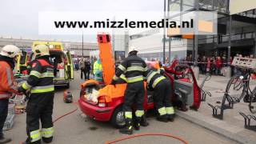
<path id="1" fill-rule="evenodd" d="M 103 122 L 110 121 L 114 108 L 94 106 L 88 102 L 84 102 L 82 99 L 79 99 L 78 103 L 82 112 L 90 118 Z"/>

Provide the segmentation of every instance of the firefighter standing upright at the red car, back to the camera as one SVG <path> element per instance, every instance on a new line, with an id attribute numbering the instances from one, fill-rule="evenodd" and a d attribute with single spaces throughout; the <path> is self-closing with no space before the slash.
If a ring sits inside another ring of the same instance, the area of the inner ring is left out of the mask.
<path id="1" fill-rule="evenodd" d="M 126 119 L 126 127 L 120 129 L 122 134 L 132 134 L 133 126 L 135 130 L 139 130 L 140 122 L 144 115 L 144 78 L 146 74 L 146 62 L 137 56 L 138 50 L 134 46 L 129 48 L 129 55 L 118 66 L 111 84 L 115 84 L 118 78 L 125 74 L 127 88 L 123 104 L 124 116 Z M 136 102 L 135 121 L 133 125 L 133 114 L 131 106 Z"/>

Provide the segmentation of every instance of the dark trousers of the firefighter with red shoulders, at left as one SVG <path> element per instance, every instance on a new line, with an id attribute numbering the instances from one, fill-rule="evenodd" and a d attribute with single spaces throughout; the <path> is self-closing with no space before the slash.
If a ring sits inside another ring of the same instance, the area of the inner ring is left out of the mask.
<path id="1" fill-rule="evenodd" d="M 54 128 L 52 114 L 54 107 L 54 92 L 31 94 L 26 106 L 26 132 L 28 143 L 51 142 Z M 39 120 L 42 123 L 40 130 Z"/>

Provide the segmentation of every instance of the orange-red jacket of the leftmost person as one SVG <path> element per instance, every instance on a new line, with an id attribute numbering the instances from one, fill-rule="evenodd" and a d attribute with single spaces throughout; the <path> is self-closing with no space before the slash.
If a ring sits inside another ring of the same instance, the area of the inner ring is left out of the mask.
<path id="1" fill-rule="evenodd" d="M 0 61 L 0 99 L 8 99 L 13 93 L 18 94 L 13 70 L 7 62 Z"/>

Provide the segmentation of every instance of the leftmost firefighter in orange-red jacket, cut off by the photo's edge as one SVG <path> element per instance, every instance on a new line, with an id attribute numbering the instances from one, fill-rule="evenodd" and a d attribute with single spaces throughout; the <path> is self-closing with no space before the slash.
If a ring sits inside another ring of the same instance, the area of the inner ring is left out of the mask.
<path id="1" fill-rule="evenodd" d="M 19 94 L 18 88 L 14 85 L 15 58 L 20 53 L 17 46 L 6 45 L 0 53 L 0 143 L 10 142 L 5 138 L 2 129 L 8 115 L 9 98 L 12 94 Z"/>

